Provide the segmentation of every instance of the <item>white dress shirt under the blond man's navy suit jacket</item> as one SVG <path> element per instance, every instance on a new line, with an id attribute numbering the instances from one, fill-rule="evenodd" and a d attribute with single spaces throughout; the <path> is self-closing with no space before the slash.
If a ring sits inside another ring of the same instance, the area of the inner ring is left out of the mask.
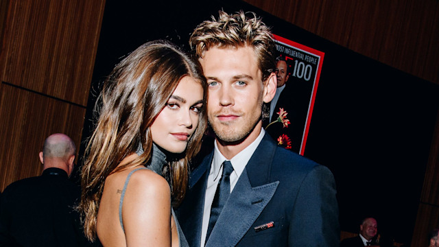
<path id="1" fill-rule="evenodd" d="M 261 143 L 263 135 L 265 134 L 265 130 L 261 129 L 261 133 L 257 139 L 255 139 L 247 148 L 236 154 L 232 159 L 230 159 L 230 163 L 233 166 L 233 172 L 230 174 L 230 193 L 232 193 L 233 188 L 241 176 L 244 168 L 251 156 L 254 153 L 254 150 L 258 147 L 259 143 Z M 213 151 L 213 161 L 211 165 L 211 172 L 209 173 L 209 178 L 207 180 L 207 188 L 206 188 L 206 198 L 204 198 L 204 214 L 203 214 L 203 224 L 201 231 L 201 247 L 204 247 L 204 242 L 206 242 L 206 234 L 207 228 L 209 226 L 209 217 L 211 216 L 211 207 L 213 198 L 215 197 L 215 191 L 217 190 L 217 185 L 219 179 L 222 174 L 222 163 L 226 161 L 224 155 L 221 154 L 218 150 L 217 141 L 215 140 L 215 149 Z"/>

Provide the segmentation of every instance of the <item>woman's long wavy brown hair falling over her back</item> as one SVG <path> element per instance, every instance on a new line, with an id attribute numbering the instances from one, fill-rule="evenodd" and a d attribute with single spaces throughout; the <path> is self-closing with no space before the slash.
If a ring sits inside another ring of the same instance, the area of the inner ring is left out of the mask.
<path id="1" fill-rule="evenodd" d="M 123 59 L 104 83 L 95 113 L 99 115 L 88 141 L 81 173 L 82 196 L 78 209 L 83 215 L 84 231 L 93 241 L 96 218 L 108 175 L 137 165 L 145 165 L 152 154 L 150 126 L 165 107 L 167 100 L 185 77 L 195 78 L 207 86 L 200 64 L 178 47 L 163 40 L 141 45 Z M 206 129 L 206 107 L 199 114 L 198 127 L 188 142 L 186 155 L 171 161 L 171 194 L 173 204 L 185 196 L 188 161 L 200 150 Z M 136 152 L 139 143 L 143 154 L 125 165 L 123 158 Z"/>

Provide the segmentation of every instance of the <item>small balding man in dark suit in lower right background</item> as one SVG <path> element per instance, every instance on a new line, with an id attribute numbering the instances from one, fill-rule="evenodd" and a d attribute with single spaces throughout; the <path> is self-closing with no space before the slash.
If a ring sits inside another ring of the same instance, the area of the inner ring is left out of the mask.
<path id="1" fill-rule="evenodd" d="M 357 237 L 343 239 L 340 247 L 377 246 L 375 239 L 377 229 L 377 220 L 372 217 L 367 217 L 361 221 L 359 235 Z"/>

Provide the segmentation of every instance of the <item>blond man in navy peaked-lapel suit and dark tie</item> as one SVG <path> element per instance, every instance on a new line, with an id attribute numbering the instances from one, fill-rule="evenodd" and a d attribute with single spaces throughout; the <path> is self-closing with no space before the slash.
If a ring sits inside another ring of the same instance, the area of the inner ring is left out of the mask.
<path id="1" fill-rule="evenodd" d="M 333 175 L 278 147 L 262 128 L 263 102 L 276 91 L 268 27 L 254 14 L 219 12 L 189 43 L 209 84 L 216 135 L 178 209 L 189 246 L 337 246 Z"/>

